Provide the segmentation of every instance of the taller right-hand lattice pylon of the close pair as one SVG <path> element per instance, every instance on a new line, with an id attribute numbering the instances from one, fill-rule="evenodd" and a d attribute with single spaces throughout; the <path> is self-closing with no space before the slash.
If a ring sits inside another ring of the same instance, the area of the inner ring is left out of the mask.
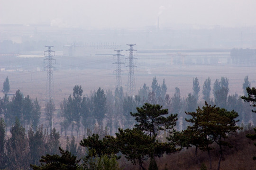
<path id="1" fill-rule="evenodd" d="M 130 96 L 133 96 L 135 94 L 136 86 L 135 86 L 135 79 L 134 79 L 134 67 L 136 67 L 133 64 L 133 59 L 137 59 L 133 57 L 133 51 L 137 51 L 133 49 L 133 46 L 136 44 L 127 44 L 130 46 L 130 49 L 126 50 L 129 51 L 129 57 L 126 59 L 129 59 L 129 65 L 126 66 L 129 68 L 129 73 L 128 73 L 128 83 L 127 83 L 127 93 Z"/>

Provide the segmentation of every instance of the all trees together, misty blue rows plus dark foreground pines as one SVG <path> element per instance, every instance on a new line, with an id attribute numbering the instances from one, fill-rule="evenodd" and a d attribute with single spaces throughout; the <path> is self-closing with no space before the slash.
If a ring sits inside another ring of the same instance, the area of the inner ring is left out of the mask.
<path id="1" fill-rule="evenodd" d="M 250 82 L 247 76 L 244 80 L 243 89 L 247 97 Z M 122 87 L 117 88 L 114 94 L 99 88 L 87 96 L 82 94 L 81 86 L 75 85 L 73 95 L 60 105 L 64 135 L 67 135 L 68 128 L 72 135 L 72 140 L 67 138 L 67 151 L 59 148 L 64 146 L 61 146 L 60 134 L 55 128 L 48 133 L 47 128 L 39 126 L 41 111 L 37 99 L 32 102 L 29 95 L 24 97 L 19 90 L 10 101 L 5 95 L 0 99 L 0 113 L 4 118 L 0 119 L 0 169 L 28 169 L 30 164 L 34 164 L 31 167 L 35 170 L 45 170 L 46 166 L 52 165 L 90 170 L 110 166 L 110 162 L 118 169 L 117 160 L 124 156 L 143 170 L 146 170 L 144 161 L 149 159 L 149 167 L 156 170 L 155 157 L 192 146 L 196 148 L 195 155 L 197 150 L 207 151 L 209 163 L 212 149 L 217 150 L 219 169 L 224 151 L 231 146 L 227 139 L 243 126 L 238 126 L 238 119 L 247 124 L 253 121 L 253 117 L 249 103 L 243 102 L 238 95 L 229 95 L 228 78 L 215 80 L 213 98 L 210 96 L 210 78 L 202 87 L 204 102 L 200 101 L 197 77 L 193 79 L 192 93 L 187 98 L 181 98 L 178 87 L 170 97 L 166 93 L 165 79 L 158 84 L 156 77 L 151 89 L 144 84 L 135 97 L 125 95 Z M 251 98 L 255 99 L 255 96 L 249 95 Z M 46 127 L 51 127 L 54 111 L 55 104 L 50 100 L 45 107 Z M 84 127 L 82 134 L 81 125 Z M 10 127 L 8 138 L 7 126 Z M 74 141 L 74 129 L 77 135 L 84 136 L 79 146 Z M 42 157 L 43 164 L 39 166 L 42 155 L 46 156 Z M 72 155 L 82 158 L 81 163 Z M 199 160 L 196 161 L 201 166 Z"/>

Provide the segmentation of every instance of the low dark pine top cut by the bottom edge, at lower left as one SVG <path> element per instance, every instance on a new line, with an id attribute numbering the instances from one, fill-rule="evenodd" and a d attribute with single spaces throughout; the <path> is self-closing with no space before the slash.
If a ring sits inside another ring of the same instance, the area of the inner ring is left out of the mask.
<path id="1" fill-rule="evenodd" d="M 57 154 L 46 154 L 42 156 L 40 162 L 41 165 L 30 165 L 33 170 L 79 170 L 78 163 L 80 160 L 77 160 L 76 156 L 71 155 L 69 151 L 64 151 L 59 147 L 61 156 Z"/>

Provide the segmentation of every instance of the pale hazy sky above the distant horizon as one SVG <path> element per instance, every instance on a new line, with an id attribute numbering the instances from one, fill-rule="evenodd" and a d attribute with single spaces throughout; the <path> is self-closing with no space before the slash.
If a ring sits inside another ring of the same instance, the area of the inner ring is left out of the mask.
<path id="1" fill-rule="evenodd" d="M 256 26 L 256 0 L 0 0 L 0 24 Z"/>

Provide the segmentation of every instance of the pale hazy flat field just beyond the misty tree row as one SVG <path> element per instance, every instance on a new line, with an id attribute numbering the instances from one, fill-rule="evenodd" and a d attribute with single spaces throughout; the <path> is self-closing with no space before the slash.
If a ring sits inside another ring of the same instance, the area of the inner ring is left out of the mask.
<path id="1" fill-rule="evenodd" d="M 256 86 L 255 69 L 254 67 L 230 65 L 173 65 L 166 63 L 163 66 L 147 65 L 141 68 L 137 67 L 134 75 L 137 91 L 144 83 L 150 87 L 153 77 L 156 76 L 159 84 L 162 84 L 163 79 L 165 79 L 167 93 L 170 96 L 174 94 L 175 87 L 179 87 L 183 97 L 192 92 L 193 77 L 198 77 L 199 79 L 201 86 L 200 96 L 202 96 L 202 85 L 205 79 L 210 77 L 211 87 L 213 87 L 216 78 L 220 79 L 221 76 L 225 76 L 229 78 L 229 94 L 238 93 L 238 95 L 243 95 L 242 84 L 245 76 L 249 76 L 251 86 Z M 99 87 L 105 91 L 110 89 L 114 93 L 116 75 L 113 70 L 114 68 L 85 68 L 81 70 L 60 69 L 54 71 L 54 101 L 56 108 L 59 108 L 59 103 L 64 98 L 73 93 L 74 85 L 82 85 L 83 94 L 85 95 L 90 95 L 91 91 L 97 90 Z M 3 85 L 6 76 L 9 78 L 9 93 L 15 93 L 16 90 L 20 89 L 24 95 L 29 95 L 32 99 L 37 97 L 41 106 L 45 105 L 46 71 L 2 71 L 0 72 L 0 85 Z M 128 70 L 125 70 L 121 78 L 124 92 L 126 92 Z M 3 97 L 3 93 L 0 93 L 0 97 Z"/>

